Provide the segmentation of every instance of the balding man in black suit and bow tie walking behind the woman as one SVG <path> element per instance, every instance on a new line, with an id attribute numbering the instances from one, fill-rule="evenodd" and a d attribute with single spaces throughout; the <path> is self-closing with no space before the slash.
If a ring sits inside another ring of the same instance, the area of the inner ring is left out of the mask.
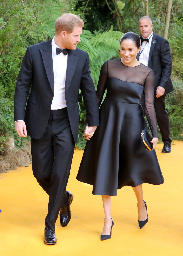
<path id="1" fill-rule="evenodd" d="M 173 91 L 173 85 L 170 79 L 172 58 L 168 41 L 154 34 L 152 28 L 152 21 L 149 17 L 143 16 L 139 19 L 142 47 L 137 58 L 142 64 L 150 67 L 154 71 L 154 107 L 164 143 L 162 153 L 169 153 L 171 151 L 172 140 L 170 138 L 169 116 L 165 110 L 165 97 L 167 93 Z"/>

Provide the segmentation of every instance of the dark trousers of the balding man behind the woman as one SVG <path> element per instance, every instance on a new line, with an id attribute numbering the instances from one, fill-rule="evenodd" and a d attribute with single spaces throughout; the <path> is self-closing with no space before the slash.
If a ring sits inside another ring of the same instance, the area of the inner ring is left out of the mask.
<path id="1" fill-rule="evenodd" d="M 157 119 L 158 126 L 160 128 L 161 138 L 164 144 L 172 142 L 170 138 L 169 115 L 165 109 L 165 97 L 166 95 L 163 95 L 158 98 L 156 97 L 156 94 L 154 96 L 154 109 L 156 112 L 156 119 Z M 144 109 L 144 97 L 142 97 L 141 105 Z"/>

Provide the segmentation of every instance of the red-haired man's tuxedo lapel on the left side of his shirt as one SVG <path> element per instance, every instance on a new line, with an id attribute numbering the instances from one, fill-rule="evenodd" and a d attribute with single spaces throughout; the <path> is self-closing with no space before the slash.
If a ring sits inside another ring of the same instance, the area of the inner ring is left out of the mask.
<path id="1" fill-rule="evenodd" d="M 48 81 L 50 82 L 52 91 L 54 91 L 53 57 L 52 57 L 51 41 L 52 39 L 44 45 L 43 49 L 40 49 L 40 52 L 42 55 L 43 64 L 46 70 Z"/>

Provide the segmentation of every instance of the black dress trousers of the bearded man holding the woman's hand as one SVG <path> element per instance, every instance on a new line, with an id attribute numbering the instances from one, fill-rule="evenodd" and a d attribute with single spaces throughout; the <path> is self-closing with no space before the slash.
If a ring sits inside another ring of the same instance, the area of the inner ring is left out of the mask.
<path id="1" fill-rule="evenodd" d="M 45 227 L 51 230 L 55 230 L 66 196 L 74 147 L 67 108 L 51 110 L 43 137 L 31 138 L 32 170 L 39 185 L 49 195 Z"/>

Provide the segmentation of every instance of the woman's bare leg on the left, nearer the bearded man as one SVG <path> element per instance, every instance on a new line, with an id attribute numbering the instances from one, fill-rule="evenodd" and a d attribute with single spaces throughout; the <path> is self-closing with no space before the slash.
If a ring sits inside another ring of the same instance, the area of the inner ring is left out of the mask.
<path id="1" fill-rule="evenodd" d="M 111 232 L 111 195 L 102 195 L 102 202 L 104 207 L 104 228 L 102 235 L 109 235 Z"/>

